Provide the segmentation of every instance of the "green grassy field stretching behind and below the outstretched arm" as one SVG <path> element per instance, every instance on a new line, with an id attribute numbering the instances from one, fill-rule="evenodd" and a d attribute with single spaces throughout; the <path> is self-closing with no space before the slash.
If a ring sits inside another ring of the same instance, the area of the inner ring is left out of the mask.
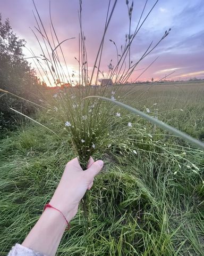
<path id="1" fill-rule="evenodd" d="M 203 82 L 128 85 L 116 95 L 204 140 Z M 111 146 L 94 155 L 105 167 L 88 192 L 89 226 L 80 210 L 57 255 L 203 255 L 203 151 L 126 110 L 115 112 L 121 117 L 113 116 Z M 37 118 L 62 136 L 28 122 L 0 142 L 1 255 L 23 241 L 75 156 L 61 124 L 46 113 Z"/>

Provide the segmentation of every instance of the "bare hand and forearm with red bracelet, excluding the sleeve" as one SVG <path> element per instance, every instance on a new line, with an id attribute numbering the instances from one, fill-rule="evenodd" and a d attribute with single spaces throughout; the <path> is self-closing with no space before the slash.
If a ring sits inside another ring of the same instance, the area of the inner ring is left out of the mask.
<path id="1" fill-rule="evenodd" d="M 81 198 L 87 189 L 91 188 L 95 175 L 102 167 L 103 161 L 94 162 L 92 158 L 86 171 L 81 169 L 78 158 L 67 163 L 61 181 L 49 203 L 60 212 L 53 208 L 46 208 L 22 246 L 47 256 L 54 256 L 66 228 L 66 221 L 70 222 L 75 216 Z"/>

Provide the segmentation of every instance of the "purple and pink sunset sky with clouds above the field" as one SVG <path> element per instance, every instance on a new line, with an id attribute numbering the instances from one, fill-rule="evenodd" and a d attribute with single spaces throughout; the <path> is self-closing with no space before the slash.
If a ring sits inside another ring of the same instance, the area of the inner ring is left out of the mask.
<path id="1" fill-rule="evenodd" d="M 111 0 L 113 6 L 115 0 Z M 132 1 L 129 1 L 131 4 Z M 133 1 L 131 34 L 137 27 L 145 0 Z M 146 17 L 155 0 L 149 0 L 143 13 L 142 20 Z M 86 36 L 86 49 L 88 55 L 88 70 L 94 66 L 96 54 L 103 36 L 106 13 L 109 0 L 82 0 L 82 25 Z M 35 0 L 37 10 L 46 28 L 48 36 L 50 33 L 49 0 Z M 78 72 L 79 49 L 79 1 L 78 0 L 51 0 L 51 13 L 54 27 L 60 42 L 64 39 L 74 37 L 62 44 L 63 53 L 70 73 Z M 2 19 L 8 18 L 14 32 L 19 38 L 27 41 L 27 49 L 31 49 L 35 55 L 40 55 L 41 50 L 35 35 L 40 43 L 43 40 L 35 29 L 36 14 L 32 0 L 1 0 L 0 13 Z M 143 23 L 131 46 L 131 61 L 137 62 L 153 41 L 155 45 L 165 33 L 171 28 L 169 35 L 137 66 L 129 78 L 134 81 L 154 61 L 158 59 L 138 78 L 140 81 L 161 79 L 166 75 L 168 79 L 183 80 L 189 78 L 204 78 L 204 3 L 203 0 L 159 0 L 149 17 Z M 112 39 L 117 47 L 118 54 L 121 45 L 125 44 L 125 34 L 129 33 L 129 17 L 126 0 L 118 0 L 111 22 L 109 24 L 102 55 L 100 70 L 106 74 L 108 65 L 112 61 L 115 66 L 117 62 L 116 48 L 109 39 Z M 26 57 L 31 57 L 29 50 L 25 49 Z M 59 53 L 60 54 L 60 53 Z M 36 68 L 32 59 L 28 59 Z M 64 60 L 61 56 L 62 66 Z M 128 61 L 126 61 L 128 65 Z M 140 70 L 138 70 L 140 69 Z M 41 69 L 40 69 L 41 70 Z M 42 70 L 41 70 L 42 71 Z M 37 72 L 40 76 L 40 73 Z M 77 73 L 75 73 L 77 74 Z M 45 76 L 43 75 L 45 78 Z"/>

